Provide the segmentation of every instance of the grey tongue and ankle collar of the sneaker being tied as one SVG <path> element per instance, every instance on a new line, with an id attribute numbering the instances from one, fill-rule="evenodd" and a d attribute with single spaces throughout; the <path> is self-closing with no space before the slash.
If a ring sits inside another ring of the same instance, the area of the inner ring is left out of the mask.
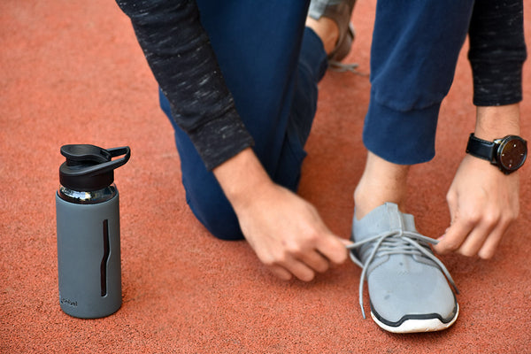
<path id="1" fill-rule="evenodd" d="M 417 231 L 413 216 L 398 211 L 398 205 L 394 203 L 380 205 L 361 220 L 356 219 L 356 216 L 354 216 L 352 231 L 356 242 L 396 230 Z"/>

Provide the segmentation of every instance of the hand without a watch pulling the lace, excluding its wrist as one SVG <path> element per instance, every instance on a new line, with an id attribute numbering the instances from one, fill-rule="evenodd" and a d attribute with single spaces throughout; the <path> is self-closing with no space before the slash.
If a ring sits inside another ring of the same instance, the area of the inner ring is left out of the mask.
<path id="1" fill-rule="evenodd" d="M 258 258 L 283 280 L 312 281 L 315 273 L 347 258 L 315 208 L 288 189 L 273 185 L 237 212 L 243 235 Z"/>

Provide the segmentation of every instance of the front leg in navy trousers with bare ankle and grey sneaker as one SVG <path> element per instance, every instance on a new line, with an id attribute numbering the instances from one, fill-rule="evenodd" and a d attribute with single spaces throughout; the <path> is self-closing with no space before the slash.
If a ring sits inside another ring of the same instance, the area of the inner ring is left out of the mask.
<path id="1" fill-rule="evenodd" d="M 395 333 L 436 331 L 458 318 L 450 273 L 405 214 L 409 165 L 435 154 L 435 127 L 450 89 L 473 1 L 379 0 L 364 127 L 366 170 L 354 198 L 351 258 L 362 266 L 371 315 Z M 451 19 L 451 20 L 447 20 Z M 455 289 L 457 291 L 457 289 Z"/>

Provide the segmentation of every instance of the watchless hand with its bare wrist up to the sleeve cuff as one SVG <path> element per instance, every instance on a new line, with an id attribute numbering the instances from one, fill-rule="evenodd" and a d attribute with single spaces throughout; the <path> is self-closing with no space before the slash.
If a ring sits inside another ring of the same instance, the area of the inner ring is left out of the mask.
<path id="1" fill-rule="evenodd" d="M 316 273 L 347 259 L 346 241 L 328 230 L 312 204 L 274 184 L 252 150 L 243 150 L 213 172 L 243 235 L 279 278 L 312 281 Z"/>

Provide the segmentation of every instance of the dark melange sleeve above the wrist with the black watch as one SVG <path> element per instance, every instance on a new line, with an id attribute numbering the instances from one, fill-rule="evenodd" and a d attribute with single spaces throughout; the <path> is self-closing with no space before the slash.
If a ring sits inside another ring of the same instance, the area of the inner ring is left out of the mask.
<path id="1" fill-rule="evenodd" d="M 475 1 L 468 31 L 473 104 L 522 100 L 522 66 L 527 58 L 523 17 L 522 0 Z"/>

